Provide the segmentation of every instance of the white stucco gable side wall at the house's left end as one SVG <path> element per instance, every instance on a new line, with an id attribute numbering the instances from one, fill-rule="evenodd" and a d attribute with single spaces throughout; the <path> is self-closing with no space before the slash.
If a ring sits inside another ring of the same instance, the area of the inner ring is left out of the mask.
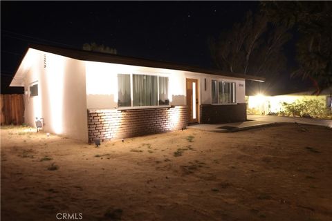
<path id="1" fill-rule="evenodd" d="M 34 49 L 27 56 L 34 59 L 26 70 L 25 90 L 37 81 L 39 91 L 36 97 L 25 96 L 26 124 L 35 126 L 35 117 L 43 117 L 45 131 L 88 141 L 84 61 Z"/>

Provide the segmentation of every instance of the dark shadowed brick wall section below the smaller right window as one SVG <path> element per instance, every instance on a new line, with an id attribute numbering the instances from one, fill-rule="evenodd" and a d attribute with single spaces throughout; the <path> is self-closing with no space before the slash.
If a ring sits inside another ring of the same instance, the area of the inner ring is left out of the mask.
<path id="1" fill-rule="evenodd" d="M 211 105 L 202 104 L 201 124 L 243 122 L 247 119 L 246 104 Z"/>

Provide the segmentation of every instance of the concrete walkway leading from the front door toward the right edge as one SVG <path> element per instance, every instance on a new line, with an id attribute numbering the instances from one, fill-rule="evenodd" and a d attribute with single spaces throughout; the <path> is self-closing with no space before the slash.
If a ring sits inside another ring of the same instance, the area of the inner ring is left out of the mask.
<path id="1" fill-rule="evenodd" d="M 248 115 L 247 122 L 237 122 L 228 124 L 193 124 L 187 128 L 196 128 L 203 131 L 212 132 L 235 132 L 243 131 L 251 128 L 258 128 L 278 123 L 297 123 L 297 124 L 311 124 L 316 126 L 329 126 L 332 128 L 332 121 L 327 119 L 311 119 L 299 117 L 277 117 L 265 115 Z"/>

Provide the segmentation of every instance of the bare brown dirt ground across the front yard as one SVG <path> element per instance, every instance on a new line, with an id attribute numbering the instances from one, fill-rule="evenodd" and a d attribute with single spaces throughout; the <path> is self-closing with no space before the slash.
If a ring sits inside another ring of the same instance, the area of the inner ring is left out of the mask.
<path id="1" fill-rule="evenodd" d="M 1 220 L 332 220 L 332 130 L 187 129 L 100 148 L 1 128 Z"/>

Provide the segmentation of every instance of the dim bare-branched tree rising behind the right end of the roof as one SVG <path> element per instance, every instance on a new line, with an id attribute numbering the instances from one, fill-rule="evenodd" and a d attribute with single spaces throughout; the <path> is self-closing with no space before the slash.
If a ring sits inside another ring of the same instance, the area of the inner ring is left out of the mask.
<path id="1" fill-rule="evenodd" d="M 222 70 L 266 77 L 268 88 L 286 68 L 282 47 L 291 38 L 287 30 L 270 23 L 266 14 L 249 11 L 242 23 L 221 32 L 219 39 L 210 39 L 212 59 Z"/>

